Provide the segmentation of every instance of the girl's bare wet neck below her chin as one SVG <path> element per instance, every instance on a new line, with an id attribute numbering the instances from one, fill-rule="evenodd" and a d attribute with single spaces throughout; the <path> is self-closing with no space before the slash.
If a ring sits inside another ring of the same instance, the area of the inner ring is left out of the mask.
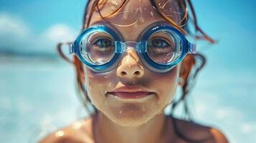
<path id="1" fill-rule="evenodd" d="M 166 120 L 164 114 L 158 114 L 138 127 L 122 127 L 98 112 L 95 115 L 95 143 L 163 142 L 166 139 Z"/>

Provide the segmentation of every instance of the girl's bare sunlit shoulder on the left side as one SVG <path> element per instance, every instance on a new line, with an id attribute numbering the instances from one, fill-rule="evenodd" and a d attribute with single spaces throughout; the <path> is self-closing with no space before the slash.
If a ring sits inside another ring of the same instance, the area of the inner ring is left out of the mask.
<path id="1" fill-rule="evenodd" d="M 70 126 L 58 129 L 39 143 L 94 143 L 93 119 L 87 118 L 70 124 Z"/>

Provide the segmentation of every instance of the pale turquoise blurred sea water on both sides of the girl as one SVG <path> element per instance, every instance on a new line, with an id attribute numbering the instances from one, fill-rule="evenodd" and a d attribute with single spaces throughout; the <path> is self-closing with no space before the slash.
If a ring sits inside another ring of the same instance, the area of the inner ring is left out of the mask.
<path id="1" fill-rule="evenodd" d="M 216 62 L 209 60 L 189 95 L 194 120 L 217 127 L 230 142 L 256 142 L 254 72 Z M 37 142 L 86 116 L 72 65 L 57 57 L 0 56 L 1 142 Z"/>

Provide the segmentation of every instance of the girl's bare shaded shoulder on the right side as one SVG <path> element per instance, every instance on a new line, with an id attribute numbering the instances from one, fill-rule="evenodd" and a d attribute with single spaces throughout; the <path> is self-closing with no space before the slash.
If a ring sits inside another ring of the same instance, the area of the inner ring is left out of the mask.
<path id="1" fill-rule="evenodd" d="M 196 122 L 176 118 L 172 118 L 170 121 L 175 122 L 176 128 L 186 139 L 206 143 L 228 143 L 227 137 L 215 127 L 208 127 Z"/>

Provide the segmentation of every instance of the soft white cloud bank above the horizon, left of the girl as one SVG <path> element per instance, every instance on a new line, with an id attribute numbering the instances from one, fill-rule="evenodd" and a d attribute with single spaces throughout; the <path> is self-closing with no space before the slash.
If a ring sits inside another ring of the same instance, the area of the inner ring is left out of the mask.
<path id="1" fill-rule="evenodd" d="M 0 13 L 0 51 L 54 54 L 57 42 L 73 41 L 77 34 L 65 24 L 54 24 L 34 34 L 22 19 Z"/>

